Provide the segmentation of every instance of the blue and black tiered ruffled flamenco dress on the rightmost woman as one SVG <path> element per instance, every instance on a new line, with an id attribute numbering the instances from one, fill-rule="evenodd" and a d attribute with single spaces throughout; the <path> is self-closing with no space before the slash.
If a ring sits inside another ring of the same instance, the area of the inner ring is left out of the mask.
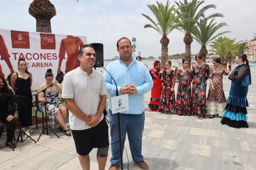
<path id="1" fill-rule="evenodd" d="M 241 68 L 242 70 L 243 68 Z M 235 70 L 235 69 L 234 69 Z M 240 72 L 234 71 L 234 76 Z M 230 127 L 240 128 L 248 127 L 247 109 L 248 100 L 246 98 L 248 93 L 248 86 L 242 86 L 241 80 L 232 81 L 227 104 L 225 107 L 221 120 L 222 124 Z"/>

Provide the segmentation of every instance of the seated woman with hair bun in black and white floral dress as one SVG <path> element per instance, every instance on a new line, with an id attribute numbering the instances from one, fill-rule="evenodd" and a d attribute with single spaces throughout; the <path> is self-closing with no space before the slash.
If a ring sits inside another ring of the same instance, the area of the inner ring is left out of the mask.
<path id="1" fill-rule="evenodd" d="M 52 74 L 52 69 L 48 69 L 47 72 L 45 73 L 45 82 L 41 84 L 38 88 L 38 92 L 52 84 L 53 80 L 53 74 Z M 45 112 L 44 109 L 44 102 L 47 101 L 47 115 L 50 118 L 52 125 L 55 125 L 55 120 L 57 120 L 60 123 L 60 131 L 64 131 L 67 136 L 71 136 L 70 131 L 68 130 L 68 127 L 66 127 L 66 124 L 64 120 L 67 117 L 67 109 L 66 107 L 62 104 L 62 102 L 59 99 L 59 93 L 62 93 L 62 87 L 60 86 L 59 83 L 54 82 L 54 85 L 47 88 L 45 95 L 44 93 L 41 92 L 38 94 L 38 102 L 39 103 L 39 108 L 41 111 Z"/>

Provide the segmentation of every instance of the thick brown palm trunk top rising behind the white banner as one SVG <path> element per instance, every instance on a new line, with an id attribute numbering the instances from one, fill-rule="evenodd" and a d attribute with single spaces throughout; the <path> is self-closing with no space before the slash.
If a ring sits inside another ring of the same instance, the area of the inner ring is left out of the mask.
<path id="1" fill-rule="evenodd" d="M 36 18 L 36 32 L 52 33 L 51 19 L 56 10 L 50 0 L 33 0 L 28 13 Z"/>

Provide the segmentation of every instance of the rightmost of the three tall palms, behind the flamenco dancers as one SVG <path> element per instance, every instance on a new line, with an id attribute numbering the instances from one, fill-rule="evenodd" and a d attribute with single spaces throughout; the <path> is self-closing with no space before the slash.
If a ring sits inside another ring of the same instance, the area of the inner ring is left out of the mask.
<path id="1" fill-rule="evenodd" d="M 222 14 L 215 14 L 215 16 L 223 17 Z M 206 49 L 206 45 L 208 45 L 213 39 L 224 34 L 229 33 L 230 31 L 222 31 L 214 35 L 214 33 L 220 29 L 221 27 L 227 26 L 226 22 L 221 22 L 217 24 L 214 22 L 215 18 L 213 18 L 209 23 L 207 23 L 209 18 L 200 18 L 199 23 L 197 24 L 197 28 L 194 30 L 193 38 L 201 45 L 200 54 L 203 56 L 203 62 L 206 61 L 206 55 L 208 51 Z"/>

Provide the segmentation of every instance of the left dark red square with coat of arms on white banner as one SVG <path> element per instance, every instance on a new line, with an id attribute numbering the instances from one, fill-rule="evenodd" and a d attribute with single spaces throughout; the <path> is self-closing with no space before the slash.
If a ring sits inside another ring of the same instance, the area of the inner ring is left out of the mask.
<path id="1" fill-rule="evenodd" d="M 25 31 L 11 30 L 12 48 L 13 49 L 29 49 L 29 33 Z"/>

